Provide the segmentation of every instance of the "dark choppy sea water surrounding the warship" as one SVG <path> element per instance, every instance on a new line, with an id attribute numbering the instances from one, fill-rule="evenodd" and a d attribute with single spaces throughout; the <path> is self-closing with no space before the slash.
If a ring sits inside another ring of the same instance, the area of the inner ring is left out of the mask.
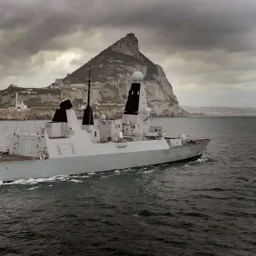
<path id="1" fill-rule="evenodd" d="M 2 184 L 0 254 L 255 255 L 256 118 L 160 121 L 212 137 L 203 159 Z"/>

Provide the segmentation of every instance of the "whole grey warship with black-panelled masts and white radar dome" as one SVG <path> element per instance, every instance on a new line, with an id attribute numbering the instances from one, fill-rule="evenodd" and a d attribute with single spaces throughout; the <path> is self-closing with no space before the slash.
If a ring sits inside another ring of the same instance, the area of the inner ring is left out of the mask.
<path id="1" fill-rule="evenodd" d="M 7 183 L 195 160 L 209 142 L 184 134 L 168 137 L 162 125 L 152 124 L 141 72 L 132 75 L 122 119 L 107 119 L 102 114 L 96 122 L 90 107 L 89 76 L 82 124 L 66 99 L 40 131 L 15 131 L 9 148 L 0 154 L 0 180 Z"/>

